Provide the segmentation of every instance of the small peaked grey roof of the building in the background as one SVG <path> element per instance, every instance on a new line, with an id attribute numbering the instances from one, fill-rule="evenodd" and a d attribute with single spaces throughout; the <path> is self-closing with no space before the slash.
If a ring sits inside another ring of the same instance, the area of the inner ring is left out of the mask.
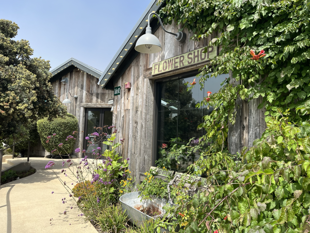
<path id="1" fill-rule="evenodd" d="M 69 60 L 65 61 L 61 65 L 50 70 L 50 72 L 53 75 L 52 78 L 50 79 L 50 82 L 52 83 L 60 79 L 62 76 L 68 74 L 70 71 L 73 71 L 75 68 L 78 68 L 86 73 L 89 73 L 90 75 L 93 75 L 96 78 L 99 78 L 103 74 L 102 71 L 97 70 L 94 67 L 86 65 L 85 63 L 71 57 Z"/>

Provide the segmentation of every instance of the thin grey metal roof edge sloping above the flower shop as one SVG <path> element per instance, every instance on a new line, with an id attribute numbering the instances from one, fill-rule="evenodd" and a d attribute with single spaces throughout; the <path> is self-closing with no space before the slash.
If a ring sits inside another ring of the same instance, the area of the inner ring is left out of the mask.
<path id="1" fill-rule="evenodd" d="M 149 11 L 154 7 L 154 5 L 156 5 L 158 2 L 158 0 L 151 0 L 151 2 L 148 4 L 148 7 L 145 9 L 145 11 L 143 12 L 143 14 L 141 15 L 141 17 L 139 18 L 138 22 L 135 24 L 135 26 L 133 27 L 133 29 L 131 30 L 131 32 L 128 34 L 127 38 L 125 39 L 125 41 L 122 43 L 121 47 L 118 49 L 117 53 L 114 55 L 114 57 L 112 58 L 111 62 L 108 64 L 107 68 L 104 70 L 103 74 L 100 76 L 99 78 L 99 81 L 98 81 L 98 85 L 101 84 L 101 81 L 103 80 L 103 78 L 106 76 L 106 75 L 109 75 L 108 74 L 108 71 L 113 69 L 112 66 L 113 66 L 113 63 L 116 62 L 117 58 L 120 57 L 121 53 L 124 51 L 127 45 L 127 43 L 130 42 L 131 38 L 134 36 L 134 33 L 139 29 L 139 27 L 141 27 L 141 24 L 144 22 L 144 26 L 143 26 L 143 29 L 147 26 L 147 22 L 144 21 L 144 19 L 146 17 L 148 17 L 148 14 L 150 13 Z M 160 9 L 162 7 L 162 5 L 164 4 L 164 1 L 162 1 L 160 4 L 158 4 L 157 6 L 157 10 Z M 152 12 L 152 11 L 151 11 Z M 151 18 L 151 21 L 153 20 L 153 18 Z M 141 30 L 141 32 L 139 33 L 139 35 L 144 32 L 144 30 Z M 134 44 L 135 41 L 133 41 L 132 43 Z M 134 48 L 130 48 L 130 50 L 132 50 Z M 127 52 L 127 51 L 126 51 Z M 124 55 L 123 57 L 125 57 L 126 55 Z M 121 61 L 119 62 L 121 63 Z M 107 79 L 105 79 L 104 83 L 101 85 L 102 88 L 104 88 L 104 86 L 108 83 L 108 81 L 112 78 L 113 74 L 115 73 L 115 71 L 118 69 L 119 65 L 114 68 L 113 70 L 111 70 L 110 72 L 110 75 Z"/>

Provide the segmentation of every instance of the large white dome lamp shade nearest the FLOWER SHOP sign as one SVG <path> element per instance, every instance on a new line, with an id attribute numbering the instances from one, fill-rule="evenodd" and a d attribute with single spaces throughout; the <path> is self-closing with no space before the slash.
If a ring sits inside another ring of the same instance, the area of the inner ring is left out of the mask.
<path id="1" fill-rule="evenodd" d="M 162 51 L 162 45 L 155 35 L 147 31 L 137 40 L 135 50 L 140 53 L 158 53 Z"/>

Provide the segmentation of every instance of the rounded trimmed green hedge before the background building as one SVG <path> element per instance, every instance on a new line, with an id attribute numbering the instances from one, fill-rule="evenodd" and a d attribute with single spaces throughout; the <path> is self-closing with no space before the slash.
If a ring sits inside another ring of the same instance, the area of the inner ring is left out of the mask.
<path id="1" fill-rule="evenodd" d="M 73 151 L 72 140 L 66 141 L 67 136 L 72 135 L 73 131 L 78 130 L 78 119 L 67 113 L 65 117 L 57 117 L 52 120 L 44 118 L 37 122 L 38 132 L 43 147 L 51 152 L 57 149 L 57 153 L 68 155 Z M 53 134 L 56 134 L 54 137 Z M 47 137 L 52 136 L 48 143 Z M 63 143 L 62 147 L 58 144 Z"/>

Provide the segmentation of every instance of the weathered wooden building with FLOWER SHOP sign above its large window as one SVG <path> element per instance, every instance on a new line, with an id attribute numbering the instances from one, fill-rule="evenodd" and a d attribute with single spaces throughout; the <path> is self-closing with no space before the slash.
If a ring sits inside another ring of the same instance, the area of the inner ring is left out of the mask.
<path id="1" fill-rule="evenodd" d="M 98 82 L 102 89 L 114 90 L 113 125 L 119 130 L 117 141 L 125 138 L 122 153 L 124 158 L 130 158 L 129 169 L 136 180 L 139 180 L 141 172 L 155 165 L 159 158 L 158 149 L 163 143 L 168 147 L 171 140 L 182 144 L 190 138 L 197 140 L 204 133 L 197 130 L 197 125 L 210 111 L 195 109 L 195 103 L 207 96 L 207 91 L 218 91 L 225 77 L 231 76 L 210 78 L 204 90 L 200 91 L 196 85 L 190 93 L 186 92 L 185 83 L 193 82 L 198 69 L 221 50 L 220 47 L 208 48 L 208 57 L 201 53 L 201 48 L 204 50 L 218 35 L 193 41 L 189 39 L 193 33 L 185 29 L 187 39 L 179 43 L 173 35 L 164 32 L 154 17 L 150 26 L 152 34 L 162 45 L 162 51 L 153 54 L 137 52 L 135 43 L 145 34 L 149 13 L 158 12 L 164 6 L 164 3 L 157 5 L 157 2 L 152 0 L 149 4 Z M 175 23 L 165 28 L 175 33 L 179 30 Z M 257 109 L 259 101 L 237 101 L 237 123 L 229 127 L 231 153 L 252 145 L 254 139 L 262 135 L 265 129 L 264 110 Z"/>

